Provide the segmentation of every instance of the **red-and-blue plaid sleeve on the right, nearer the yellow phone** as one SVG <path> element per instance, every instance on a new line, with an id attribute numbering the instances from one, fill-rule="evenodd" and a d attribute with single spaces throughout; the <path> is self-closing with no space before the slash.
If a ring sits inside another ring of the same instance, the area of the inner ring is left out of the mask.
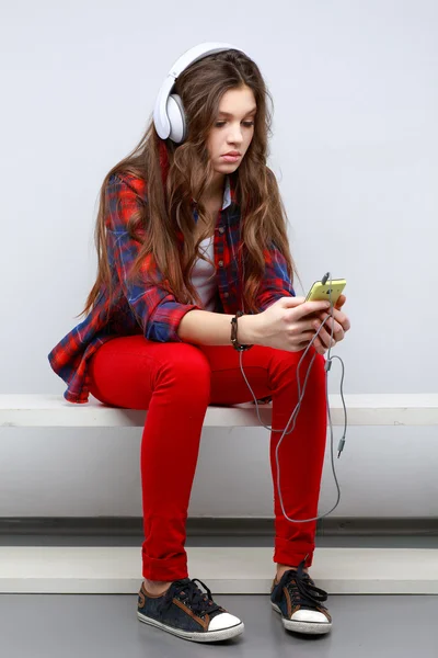
<path id="1" fill-rule="evenodd" d="M 258 313 L 281 297 L 296 297 L 287 262 L 279 249 L 272 242 L 270 249 L 264 250 L 265 273 L 256 296 Z"/>

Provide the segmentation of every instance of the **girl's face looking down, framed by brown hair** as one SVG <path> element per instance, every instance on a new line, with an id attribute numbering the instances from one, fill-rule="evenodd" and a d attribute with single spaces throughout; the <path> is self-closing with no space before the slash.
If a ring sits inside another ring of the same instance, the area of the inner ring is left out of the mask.
<path id="1" fill-rule="evenodd" d="M 235 171 L 254 136 L 256 103 L 249 87 L 229 89 L 221 98 L 219 114 L 215 118 L 207 140 L 208 152 L 217 174 Z M 238 151 L 239 156 L 226 156 Z"/>

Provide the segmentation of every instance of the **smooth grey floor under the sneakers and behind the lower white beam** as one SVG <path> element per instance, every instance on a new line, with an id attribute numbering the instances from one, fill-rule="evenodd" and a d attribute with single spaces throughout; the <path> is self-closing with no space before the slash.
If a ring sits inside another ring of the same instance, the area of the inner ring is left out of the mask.
<path id="1" fill-rule="evenodd" d="M 0 545 L 141 546 L 141 536 L 0 535 Z M 268 536 L 192 536 L 193 546 L 270 546 Z M 316 546 L 437 548 L 438 536 L 319 536 Z M 140 564 L 140 552 L 139 552 Z M 415 569 L 415 564 L 412 565 Z M 140 572 L 139 572 L 140 574 Z M 196 574 L 191 574 L 196 578 Z M 139 587 L 141 575 L 139 575 Z M 208 582 L 206 583 L 208 585 Z M 318 582 L 316 582 L 318 585 Z M 4 658 L 437 658 L 438 597 L 331 595 L 333 631 L 307 637 L 284 629 L 268 595 L 218 595 L 245 623 L 239 638 L 215 645 L 182 640 L 138 622 L 137 597 L 0 594 Z"/>

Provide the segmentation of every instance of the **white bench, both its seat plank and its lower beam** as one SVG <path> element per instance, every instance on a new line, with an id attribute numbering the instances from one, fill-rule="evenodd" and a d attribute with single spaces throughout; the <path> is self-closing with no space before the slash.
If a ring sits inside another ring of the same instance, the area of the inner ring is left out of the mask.
<path id="1" fill-rule="evenodd" d="M 438 426 L 438 394 L 345 395 L 349 426 Z M 146 411 L 71 405 L 57 395 L 0 395 L 0 428 L 142 427 Z M 344 426 L 339 395 L 330 396 L 334 426 Z M 261 407 L 266 424 L 272 405 Z M 204 427 L 258 427 L 255 406 L 208 407 Z M 336 432 L 341 436 L 341 430 Z M 336 445 L 336 443 L 335 443 Z M 214 593 L 267 593 L 272 548 L 188 547 L 192 577 Z M 249 559 L 249 555 L 251 559 Z M 415 568 L 413 568 L 415 565 Z M 312 577 L 328 593 L 438 594 L 438 551 L 319 548 Z M 0 593 L 136 593 L 141 547 L 0 546 Z"/>

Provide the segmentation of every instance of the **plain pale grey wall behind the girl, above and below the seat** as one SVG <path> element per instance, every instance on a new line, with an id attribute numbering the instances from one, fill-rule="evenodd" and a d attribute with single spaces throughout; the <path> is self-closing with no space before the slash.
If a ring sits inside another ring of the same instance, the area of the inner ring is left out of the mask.
<path id="1" fill-rule="evenodd" d="M 103 177 L 140 138 L 173 61 L 204 41 L 246 49 L 274 95 L 269 164 L 297 294 L 327 270 L 347 279 L 351 330 L 333 352 L 345 392 L 436 392 L 438 4 L 165 7 L 2 11 L 0 393 L 62 394 L 47 353 L 94 282 Z M 339 375 L 335 360 L 333 393 Z M 141 514 L 139 443 L 135 430 L 2 430 L 0 514 Z M 206 430 L 189 513 L 270 515 L 267 449 L 263 429 Z M 437 462 L 433 428 L 351 428 L 335 514 L 436 515 Z M 326 466 L 321 511 L 335 500 Z"/>

